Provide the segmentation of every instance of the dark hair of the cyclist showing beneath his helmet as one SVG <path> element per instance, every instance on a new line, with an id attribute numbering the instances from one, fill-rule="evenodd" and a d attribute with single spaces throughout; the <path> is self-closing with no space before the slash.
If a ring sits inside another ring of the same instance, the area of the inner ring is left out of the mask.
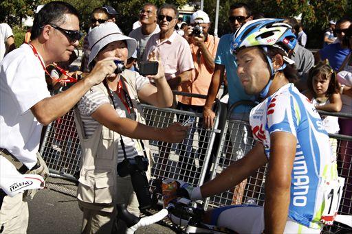
<path id="1" fill-rule="evenodd" d="M 276 47 L 272 47 L 272 46 L 268 46 L 267 47 L 267 51 L 265 51 L 262 47 L 261 50 L 263 51 L 263 55 L 267 55 L 269 56 L 269 58 L 271 58 L 272 60 L 274 59 L 274 57 L 276 56 L 276 54 L 280 54 L 281 56 L 287 56 L 285 54 L 285 51 L 283 51 L 282 49 L 276 48 Z M 285 62 L 285 60 L 284 60 Z M 289 63 L 286 63 L 286 67 L 285 69 L 283 69 L 283 71 L 278 71 L 278 72 L 283 72 L 283 74 L 285 75 L 285 78 L 287 80 L 289 80 L 290 83 L 296 83 L 298 82 L 298 72 L 296 67 L 294 67 L 294 65 L 290 65 Z M 268 69 L 270 70 L 270 65 L 268 64 Z"/>

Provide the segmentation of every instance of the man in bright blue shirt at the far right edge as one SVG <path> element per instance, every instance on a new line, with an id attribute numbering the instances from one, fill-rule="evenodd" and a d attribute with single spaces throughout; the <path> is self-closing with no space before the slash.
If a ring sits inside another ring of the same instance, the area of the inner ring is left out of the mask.
<path id="1" fill-rule="evenodd" d="M 342 18 L 338 22 L 336 22 L 336 35 L 338 36 L 338 42 L 326 45 L 324 48 L 320 49 L 318 53 L 315 54 L 316 63 L 320 60 L 329 60 L 330 66 L 338 71 L 340 69 L 344 58 L 349 54 L 351 49 L 344 45 L 342 41 L 344 40 L 344 36 L 349 30 L 349 26 L 352 24 L 351 18 Z"/>

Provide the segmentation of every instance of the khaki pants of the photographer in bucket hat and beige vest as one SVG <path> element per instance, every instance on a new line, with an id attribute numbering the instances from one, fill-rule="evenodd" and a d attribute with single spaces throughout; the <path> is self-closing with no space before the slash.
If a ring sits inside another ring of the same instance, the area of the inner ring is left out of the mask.
<path id="1" fill-rule="evenodd" d="M 139 216 L 140 209 L 138 209 L 139 204 L 137 196 L 133 191 L 133 186 L 130 177 L 118 178 L 117 179 L 118 194 L 116 198 L 117 204 L 128 204 L 127 209 L 133 215 Z M 113 211 L 107 212 L 102 211 L 102 209 L 107 207 L 112 207 L 113 204 L 103 206 L 97 203 L 87 203 L 78 200 L 80 209 L 83 211 L 83 224 L 82 233 L 112 233 L 114 231 L 114 225 L 116 222 L 117 211 L 113 207 Z M 123 222 L 118 222 L 118 233 L 125 233 L 126 225 Z"/>

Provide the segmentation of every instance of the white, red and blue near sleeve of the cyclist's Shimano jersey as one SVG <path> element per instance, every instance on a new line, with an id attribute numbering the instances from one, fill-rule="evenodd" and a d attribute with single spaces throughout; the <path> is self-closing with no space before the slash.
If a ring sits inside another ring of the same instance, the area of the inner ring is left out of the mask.
<path id="1" fill-rule="evenodd" d="M 272 132 L 289 132 L 296 137 L 299 108 L 290 95 L 278 95 L 267 106 L 267 128 Z"/>

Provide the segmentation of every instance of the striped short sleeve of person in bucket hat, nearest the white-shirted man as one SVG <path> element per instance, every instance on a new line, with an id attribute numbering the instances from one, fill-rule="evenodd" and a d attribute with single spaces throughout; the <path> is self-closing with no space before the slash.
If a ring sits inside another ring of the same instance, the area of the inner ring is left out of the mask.
<path id="1" fill-rule="evenodd" d="M 105 103 L 110 103 L 108 97 L 99 91 L 89 90 L 78 102 L 78 109 L 83 115 L 90 116 Z"/>

